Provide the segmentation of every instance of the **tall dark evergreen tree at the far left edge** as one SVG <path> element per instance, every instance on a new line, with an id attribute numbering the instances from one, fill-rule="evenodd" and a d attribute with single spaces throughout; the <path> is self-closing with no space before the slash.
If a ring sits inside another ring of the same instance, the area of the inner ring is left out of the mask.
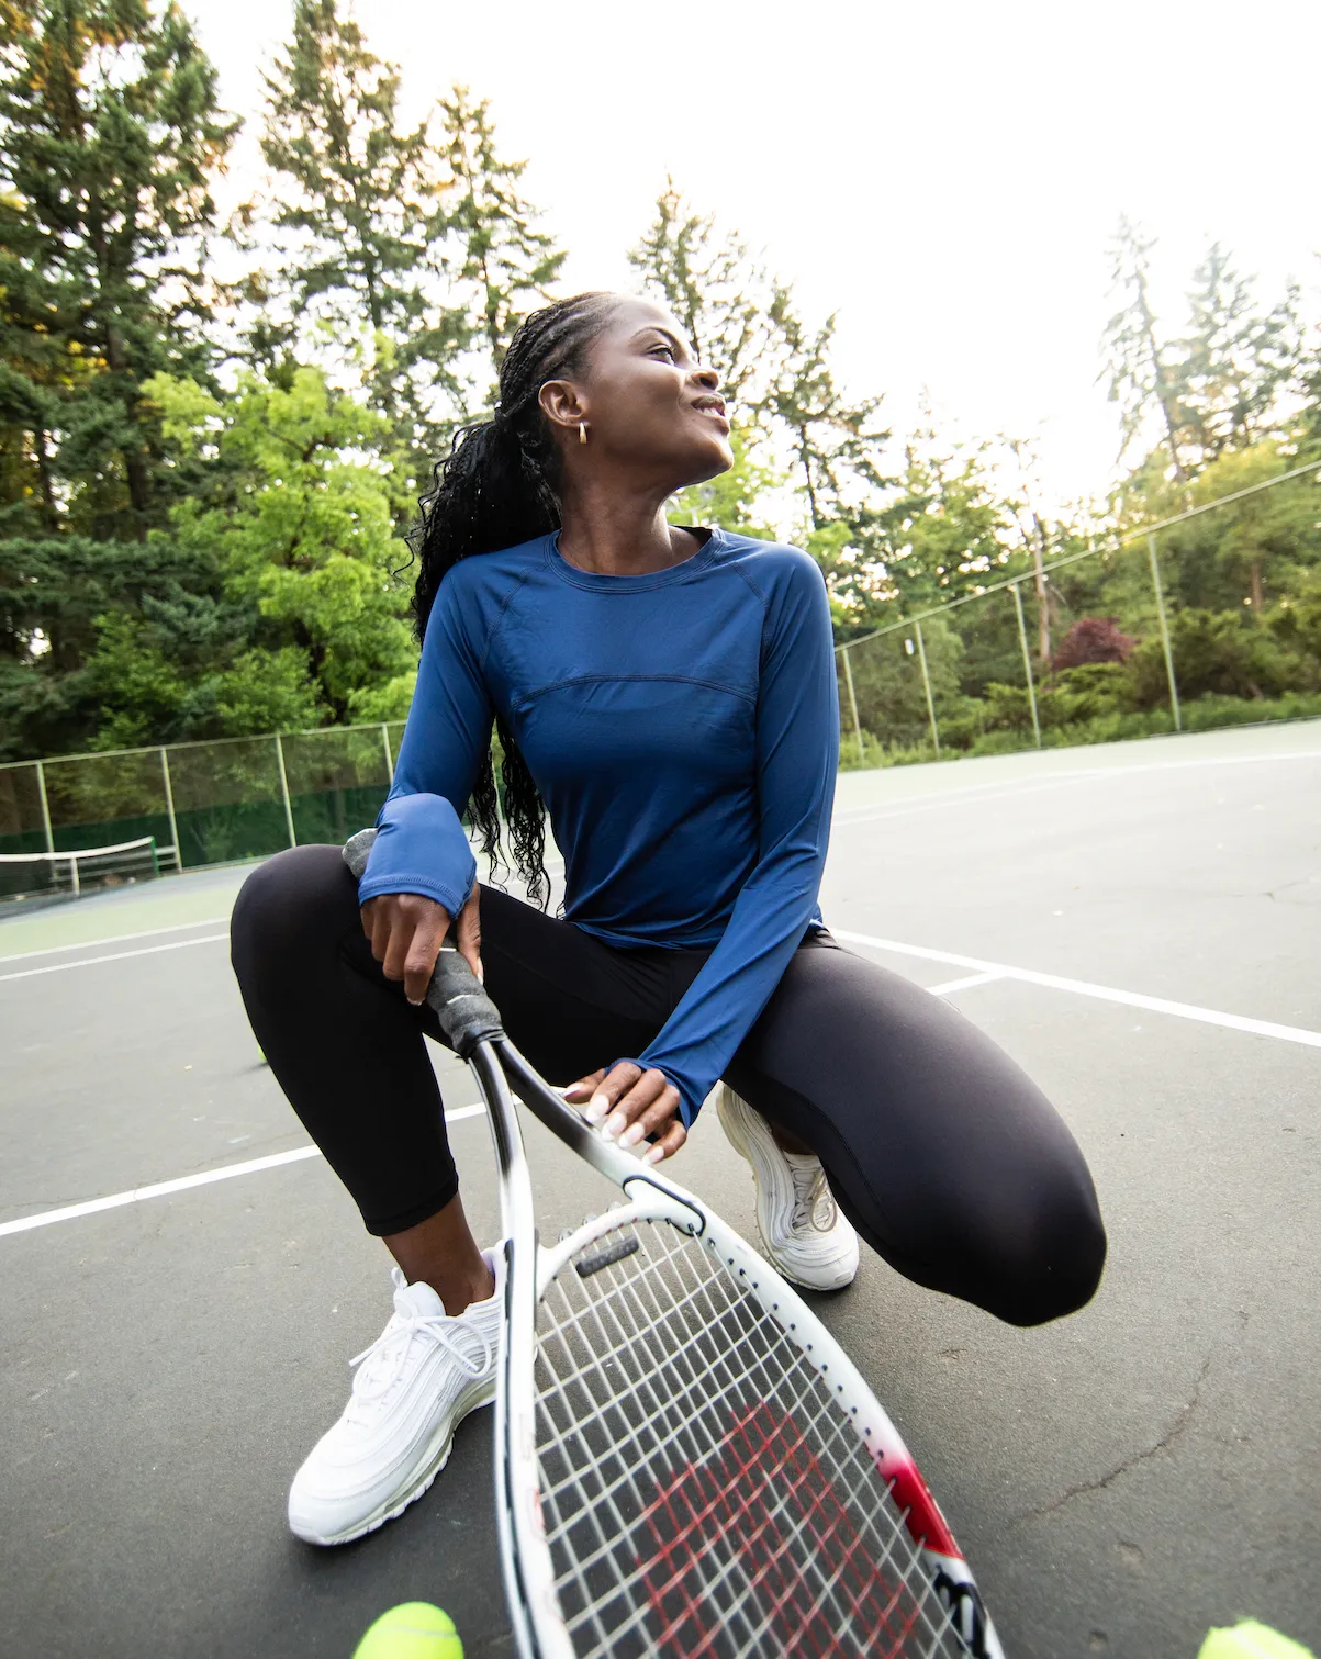
<path id="1" fill-rule="evenodd" d="M 174 5 L 5 0 L 0 22 L 0 727 L 88 747 L 98 619 L 199 581 L 148 544 L 196 483 L 143 393 L 209 375 L 212 173 L 236 123 Z"/>

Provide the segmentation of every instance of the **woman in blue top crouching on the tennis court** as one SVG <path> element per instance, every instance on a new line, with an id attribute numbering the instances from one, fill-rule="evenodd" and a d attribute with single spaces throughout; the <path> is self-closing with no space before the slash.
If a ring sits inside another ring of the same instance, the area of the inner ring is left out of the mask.
<path id="1" fill-rule="evenodd" d="M 423 1034 L 441 939 L 601 1133 L 684 1145 L 722 1078 L 767 1253 L 848 1284 L 861 1238 L 1014 1324 L 1080 1307 L 1105 1254 L 1087 1168 L 1039 1090 L 958 1012 L 840 949 L 816 891 L 835 786 L 830 611 L 812 559 L 675 529 L 732 465 L 717 375 L 649 300 L 528 319 L 500 411 L 423 504 L 417 697 L 360 886 L 337 848 L 257 869 L 234 969 L 294 1110 L 395 1258 L 395 1312 L 299 1470 L 292 1530 L 398 1515 L 495 1389 L 498 1249 L 473 1239 Z M 480 888 L 503 748 L 518 869 Z M 544 811 L 564 912 L 544 912 Z M 828 1183 L 828 1185 L 826 1185 Z M 855 1233 L 856 1229 L 856 1233 Z"/>

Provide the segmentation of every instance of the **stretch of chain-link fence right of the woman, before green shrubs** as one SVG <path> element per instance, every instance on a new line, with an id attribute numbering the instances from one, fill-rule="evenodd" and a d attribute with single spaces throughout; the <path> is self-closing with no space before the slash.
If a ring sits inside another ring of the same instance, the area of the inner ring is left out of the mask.
<path id="1" fill-rule="evenodd" d="M 1321 715 L 1318 483 L 1291 468 L 841 645 L 843 765 Z"/>

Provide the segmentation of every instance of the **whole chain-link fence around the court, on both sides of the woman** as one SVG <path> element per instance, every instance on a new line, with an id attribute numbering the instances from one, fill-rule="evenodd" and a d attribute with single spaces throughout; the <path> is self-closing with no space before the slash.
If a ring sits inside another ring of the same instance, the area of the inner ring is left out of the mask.
<path id="1" fill-rule="evenodd" d="M 1321 715 L 1318 465 L 836 650 L 845 765 Z M 1243 596 L 1246 594 L 1246 604 Z M 403 723 L 0 766 L 0 853 L 154 836 L 166 868 L 342 841 Z"/>

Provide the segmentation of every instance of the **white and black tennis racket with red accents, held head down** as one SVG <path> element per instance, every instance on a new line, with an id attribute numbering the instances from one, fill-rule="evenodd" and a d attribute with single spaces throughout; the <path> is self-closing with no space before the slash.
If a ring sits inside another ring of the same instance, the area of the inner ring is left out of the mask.
<path id="1" fill-rule="evenodd" d="M 358 876 L 373 838 L 345 846 Z M 427 1000 L 500 1166 L 496 1516 L 521 1659 L 1002 1659 L 926 1481 L 816 1316 L 536 1073 L 456 951 Z M 549 1249 L 514 1093 L 624 1194 Z"/>

